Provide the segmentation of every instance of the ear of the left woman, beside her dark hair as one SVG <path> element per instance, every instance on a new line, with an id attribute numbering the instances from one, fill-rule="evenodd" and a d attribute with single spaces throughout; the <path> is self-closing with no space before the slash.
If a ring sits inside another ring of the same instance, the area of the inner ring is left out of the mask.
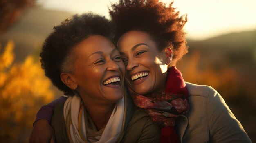
<path id="1" fill-rule="evenodd" d="M 61 81 L 70 89 L 76 90 L 77 84 L 70 73 L 61 73 Z"/>

